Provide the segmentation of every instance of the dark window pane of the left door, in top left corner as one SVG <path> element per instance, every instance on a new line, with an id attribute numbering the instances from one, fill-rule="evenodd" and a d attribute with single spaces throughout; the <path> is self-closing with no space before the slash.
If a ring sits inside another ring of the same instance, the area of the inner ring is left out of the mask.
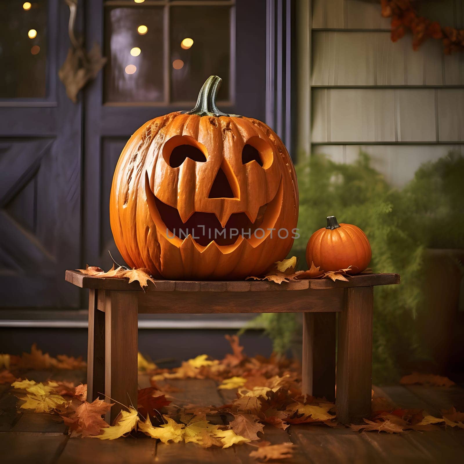
<path id="1" fill-rule="evenodd" d="M 46 0 L 0 0 L 0 12 L 0 98 L 44 98 Z"/>

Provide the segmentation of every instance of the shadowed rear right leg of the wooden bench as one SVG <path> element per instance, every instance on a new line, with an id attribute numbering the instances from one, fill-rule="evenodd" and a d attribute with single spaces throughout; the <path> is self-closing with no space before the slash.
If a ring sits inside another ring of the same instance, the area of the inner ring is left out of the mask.
<path id="1" fill-rule="evenodd" d="M 335 313 L 303 313 L 303 395 L 335 400 Z"/>

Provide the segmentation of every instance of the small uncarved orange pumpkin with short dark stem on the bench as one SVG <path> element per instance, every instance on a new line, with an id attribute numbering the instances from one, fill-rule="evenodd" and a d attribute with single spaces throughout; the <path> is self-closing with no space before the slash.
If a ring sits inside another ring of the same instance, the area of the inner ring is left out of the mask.
<path id="1" fill-rule="evenodd" d="M 327 218 L 327 227 L 314 232 L 306 247 L 308 267 L 314 263 L 321 271 L 338 271 L 351 266 L 350 274 L 359 274 L 369 265 L 371 245 L 366 234 L 352 224 L 338 224 L 335 216 Z"/>

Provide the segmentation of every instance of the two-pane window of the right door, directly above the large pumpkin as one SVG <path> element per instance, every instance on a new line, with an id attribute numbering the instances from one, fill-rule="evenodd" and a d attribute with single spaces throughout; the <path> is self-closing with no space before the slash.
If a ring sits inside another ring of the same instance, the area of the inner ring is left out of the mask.
<path id="1" fill-rule="evenodd" d="M 196 4 L 198 3 L 198 5 Z M 105 103 L 194 103 L 212 74 L 229 102 L 234 2 L 108 2 L 105 8 Z"/>

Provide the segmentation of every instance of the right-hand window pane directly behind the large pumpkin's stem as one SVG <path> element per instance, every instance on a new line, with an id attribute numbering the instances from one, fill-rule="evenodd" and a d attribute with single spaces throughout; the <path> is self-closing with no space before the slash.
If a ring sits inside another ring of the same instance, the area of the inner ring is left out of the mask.
<path id="1" fill-rule="evenodd" d="M 194 100 L 213 74 L 223 80 L 220 99 L 230 100 L 230 11 L 230 6 L 171 6 L 172 102 Z"/>

